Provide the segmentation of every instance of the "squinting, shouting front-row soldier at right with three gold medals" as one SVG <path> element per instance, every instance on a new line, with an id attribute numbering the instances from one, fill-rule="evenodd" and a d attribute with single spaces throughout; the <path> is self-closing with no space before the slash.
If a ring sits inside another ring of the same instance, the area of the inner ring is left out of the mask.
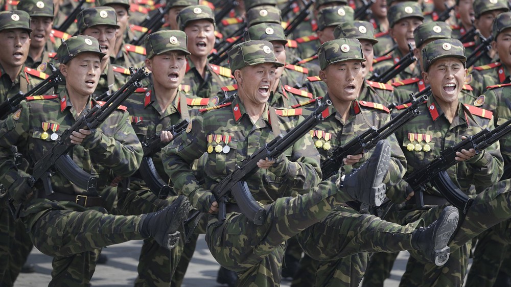
<path id="1" fill-rule="evenodd" d="M 491 112 L 483 109 L 463 105 L 459 100 L 459 93 L 467 75 L 464 68 L 464 49 L 460 41 L 455 39 L 437 39 L 423 48 L 422 73 L 426 84 L 431 85 L 432 97 L 426 105 L 419 108 L 419 116 L 411 119 L 396 132 L 401 149 L 405 154 L 408 164 L 407 173 L 411 173 L 422 165 L 437 157 L 440 152 L 449 146 L 453 146 L 464 136 L 473 135 L 482 129 L 493 126 Z M 396 113 L 403 107 L 396 107 Z M 440 136 L 441 135 L 441 136 Z M 456 152 L 458 163 L 447 170 L 454 184 L 463 192 L 470 193 L 469 188 L 474 185 L 476 189 L 486 188 L 495 183 L 502 174 L 502 156 L 499 144 L 494 143 L 491 147 L 476 154 L 474 149 Z M 405 177 L 406 178 L 406 177 Z M 415 192 L 417 190 L 414 190 Z M 425 187 L 423 195 L 424 206 L 417 206 L 420 202 L 414 196 L 410 187 L 402 181 L 395 188 L 387 191 L 387 196 L 397 203 L 406 199 L 404 207 L 399 209 L 399 223 L 405 224 L 419 218 L 428 224 L 430 219 L 449 205 L 447 200 L 439 194 L 435 187 Z M 412 200 L 410 200 L 412 199 Z M 499 214 L 500 216 L 500 214 Z M 467 221 L 466 218 L 464 221 Z M 470 225 L 478 225 L 472 222 Z M 487 224 L 478 227 L 487 228 Z M 462 230 L 462 229 L 459 229 Z M 464 231 L 464 230 L 463 230 Z M 458 231 L 458 236 L 472 236 L 474 232 L 467 234 Z M 456 236 L 456 235 L 455 235 Z M 475 236 L 475 235 L 474 235 Z M 473 236 L 472 236 L 473 237 Z M 460 286 L 466 271 L 468 247 L 464 241 L 458 242 L 455 247 L 451 244 L 451 259 L 443 268 L 438 268 L 428 263 L 424 258 L 412 251 L 410 254 L 416 259 L 415 266 L 408 266 L 407 272 L 402 277 L 402 284 L 427 286 Z M 470 243 L 470 242 L 469 242 Z M 409 270 L 419 270 L 420 274 L 413 273 L 408 276 Z"/>

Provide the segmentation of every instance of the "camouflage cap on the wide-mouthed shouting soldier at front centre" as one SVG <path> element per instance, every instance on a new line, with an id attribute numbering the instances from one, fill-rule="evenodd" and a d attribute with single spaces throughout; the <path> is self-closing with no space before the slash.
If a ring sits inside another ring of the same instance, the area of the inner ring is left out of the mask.
<path id="1" fill-rule="evenodd" d="M 284 64 L 277 62 L 273 54 L 273 45 L 268 41 L 252 40 L 240 43 L 227 52 L 230 69 L 234 72 L 246 66 L 272 63 L 277 67 Z"/>

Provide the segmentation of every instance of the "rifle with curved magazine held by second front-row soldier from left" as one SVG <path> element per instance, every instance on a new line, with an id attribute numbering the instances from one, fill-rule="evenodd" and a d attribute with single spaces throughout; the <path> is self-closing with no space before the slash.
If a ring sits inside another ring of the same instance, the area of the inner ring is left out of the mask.
<path id="1" fill-rule="evenodd" d="M 166 131 L 172 132 L 172 135 L 176 137 L 184 129 L 187 128 L 189 123 L 190 120 L 188 118 L 184 119 L 184 121 L 171 126 L 170 128 L 166 129 Z M 142 143 L 144 157 L 142 158 L 142 163 L 138 169 L 142 179 L 146 182 L 149 189 L 151 189 L 151 191 L 158 196 L 159 199 L 166 199 L 167 196 L 169 196 L 169 193 L 176 195 L 174 194 L 173 188 L 161 179 L 158 172 L 156 171 L 153 159 L 151 158 L 151 156 L 159 152 L 163 147 L 164 145 L 161 142 L 160 134 L 155 134 L 148 138 L 144 143 Z"/>

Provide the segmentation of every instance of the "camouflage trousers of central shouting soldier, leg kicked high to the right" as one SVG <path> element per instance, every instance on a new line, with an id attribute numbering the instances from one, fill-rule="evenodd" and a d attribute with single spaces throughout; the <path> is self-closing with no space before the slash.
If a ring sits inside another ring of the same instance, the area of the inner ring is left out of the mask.
<path id="1" fill-rule="evenodd" d="M 350 200 L 339 192 L 338 179 L 331 177 L 308 194 L 278 198 L 266 207 L 262 225 L 237 212 L 228 213 L 221 222 L 210 216 L 205 240 L 213 257 L 223 267 L 238 272 L 239 286 L 280 285 L 286 240 Z"/>

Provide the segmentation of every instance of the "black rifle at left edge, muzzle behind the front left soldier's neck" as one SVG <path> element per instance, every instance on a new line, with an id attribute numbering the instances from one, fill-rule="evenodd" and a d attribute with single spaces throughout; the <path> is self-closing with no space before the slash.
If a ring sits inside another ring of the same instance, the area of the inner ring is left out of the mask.
<path id="1" fill-rule="evenodd" d="M 18 109 L 19 103 L 25 100 L 26 97 L 31 95 L 45 94 L 51 88 L 58 86 L 59 82 L 62 81 L 62 75 L 53 64 L 50 64 L 50 68 L 52 69 L 53 74 L 46 78 L 44 81 L 37 84 L 26 94 L 19 91 L 12 98 L 7 99 L 2 104 L 0 104 L 0 119 L 5 119 L 9 114 L 15 112 Z"/>

